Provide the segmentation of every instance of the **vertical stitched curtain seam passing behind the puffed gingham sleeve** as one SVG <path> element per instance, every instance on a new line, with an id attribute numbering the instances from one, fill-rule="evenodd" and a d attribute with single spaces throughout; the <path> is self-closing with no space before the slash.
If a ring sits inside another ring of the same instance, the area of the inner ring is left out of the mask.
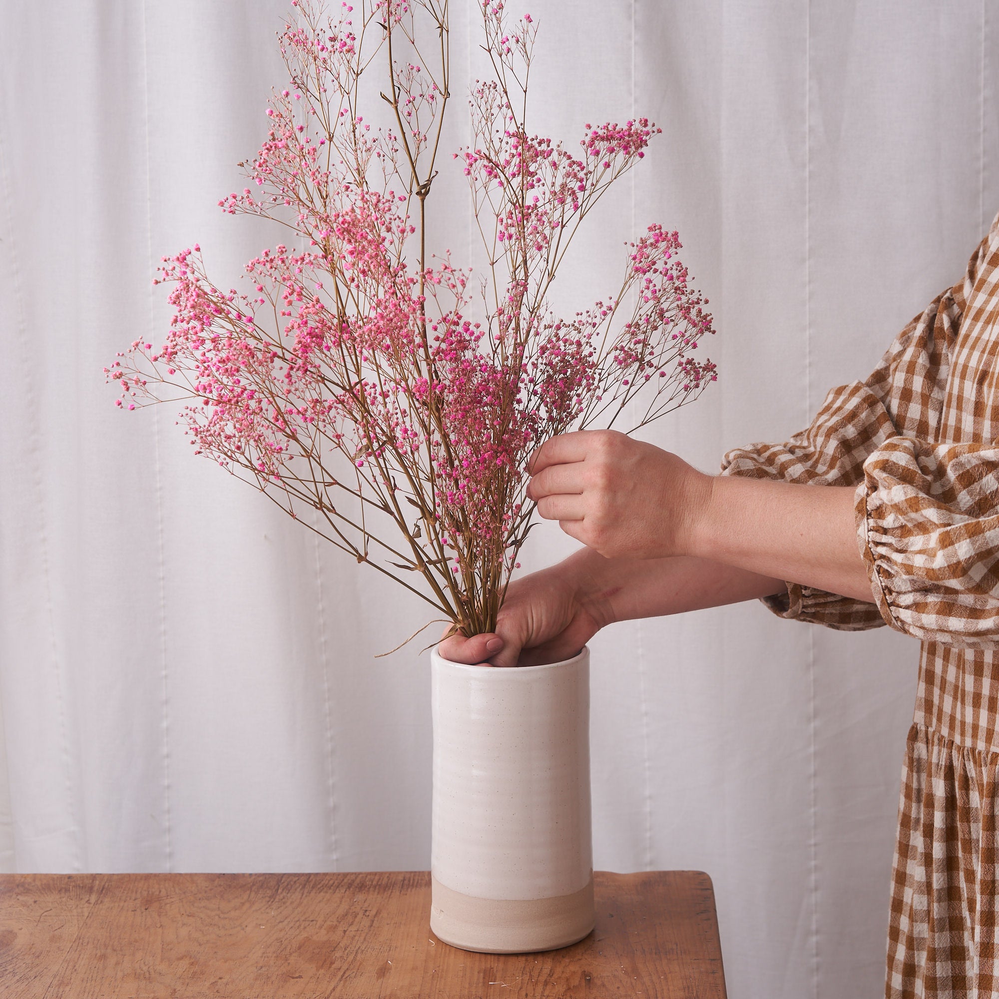
<path id="1" fill-rule="evenodd" d="M 811 0 L 805 0 L 805 422 L 811 420 Z M 818 710 L 815 697 L 815 627 L 808 629 L 808 784 L 811 830 L 808 843 L 809 894 L 811 895 L 812 993 L 819 993 L 819 873 L 818 873 Z"/>

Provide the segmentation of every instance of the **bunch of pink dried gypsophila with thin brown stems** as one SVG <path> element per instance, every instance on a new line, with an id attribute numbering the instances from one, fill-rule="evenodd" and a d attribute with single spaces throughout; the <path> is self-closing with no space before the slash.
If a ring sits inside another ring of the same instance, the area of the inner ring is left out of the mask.
<path id="1" fill-rule="evenodd" d="M 137 341 L 108 377 L 128 409 L 186 400 L 196 453 L 292 516 L 314 510 L 308 526 L 465 633 L 492 630 L 532 522 L 530 453 L 612 426 L 635 401 L 643 426 L 715 379 L 693 356 L 711 318 L 660 226 L 629 244 L 606 301 L 570 319 L 548 304 L 578 226 L 659 130 L 587 124 L 578 156 L 530 135 L 521 81 L 536 28 L 483 4 L 495 79 L 474 87 L 474 142 L 455 154 L 489 261 L 474 295 L 470 272 L 426 250 L 450 99 L 447 0 L 344 4 L 336 19 L 294 6 L 280 35 L 289 86 L 241 164 L 248 186 L 219 204 L 287 226 L 299 249 L 250 261 L 248 293 L 213 284 L 197 245 L 164 258 L 166 340 Z M 359 80 L 383 50 L 391 124 L 377 127 Z"/>

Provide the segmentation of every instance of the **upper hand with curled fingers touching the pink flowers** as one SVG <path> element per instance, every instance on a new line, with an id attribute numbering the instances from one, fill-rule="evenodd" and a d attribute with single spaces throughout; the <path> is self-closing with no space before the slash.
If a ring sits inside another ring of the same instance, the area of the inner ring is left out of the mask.
<path id="1" fill-rule="evenodd" d="M 531 457 L 537 512 L 607 558 L 689 554 L 712 477 L 616 431 L 577 431 Z"/>

